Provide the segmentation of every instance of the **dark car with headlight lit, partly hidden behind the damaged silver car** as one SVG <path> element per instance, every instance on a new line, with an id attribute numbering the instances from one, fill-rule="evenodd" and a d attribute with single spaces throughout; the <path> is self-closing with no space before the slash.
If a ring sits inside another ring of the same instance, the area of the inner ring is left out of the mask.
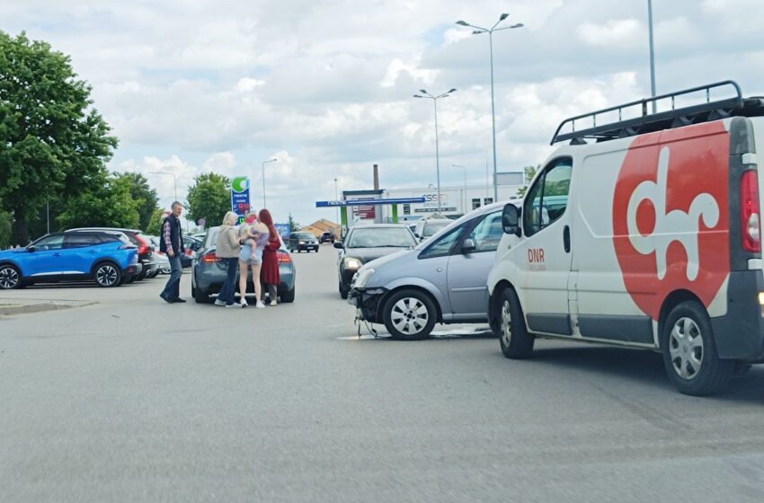
<path id="1" fill-rule="evenodd" d="M 337 278 L 340 296 L 348 298 L 351 279 L 360 267 L 371 260 L 416 246 L 416 238 L 405 225 L 354 225 L 345 240 L 334 243 L 337 254 Z"/>

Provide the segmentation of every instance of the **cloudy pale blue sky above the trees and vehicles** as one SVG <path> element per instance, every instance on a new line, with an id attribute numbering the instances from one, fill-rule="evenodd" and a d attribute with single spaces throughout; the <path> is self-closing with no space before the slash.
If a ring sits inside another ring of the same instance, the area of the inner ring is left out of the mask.
<path id="1" fill-rule="evenodd" d="M 302 224 L 315 200 L 435 181 L 484 184 L 494 34 L 499 171 L 543 162 L 561 119 L 649 95 L 647 0 L 4 0 L 0 30 L 71 55 L 120 138 L 115 171 L 147 173 L 161 202 L 201 172 L 249 175 L 253 204 Z M 764 1 L 653 0 L 658 93 L 733 79 L 764 95 Z"/>

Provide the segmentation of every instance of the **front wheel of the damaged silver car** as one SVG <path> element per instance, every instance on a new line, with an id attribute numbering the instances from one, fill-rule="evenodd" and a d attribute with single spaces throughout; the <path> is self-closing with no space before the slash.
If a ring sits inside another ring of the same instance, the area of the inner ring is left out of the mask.
<path id="1" fill-rule="evenodd" d="M 437 313 L 427 294 L 401 290 L 387 299 L 383 319 L 393 339 L 422 340 L 430 337 Z"/>

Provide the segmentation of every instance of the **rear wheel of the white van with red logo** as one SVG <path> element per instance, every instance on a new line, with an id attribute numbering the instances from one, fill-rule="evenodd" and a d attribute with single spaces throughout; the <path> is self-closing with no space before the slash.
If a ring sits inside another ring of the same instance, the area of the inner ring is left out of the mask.
<path id="1" fill-rule="evenodd" d="M 686 301 L 674 307 L 661 335 L 663 365 L 680 393 L 705 396 L 724 391 L 735 362 L 716 354 L 714 331 L 701 304 Z"/>

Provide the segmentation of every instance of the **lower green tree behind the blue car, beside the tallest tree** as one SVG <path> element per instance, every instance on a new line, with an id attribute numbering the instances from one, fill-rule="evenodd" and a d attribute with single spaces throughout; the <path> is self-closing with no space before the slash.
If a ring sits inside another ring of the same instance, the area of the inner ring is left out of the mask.
<path id="1" fill-rule="evenodd" d="M 83 192 L 69 199 L 66 209 L 58 215 L 64 228 L 108 226 L 138 227 L 138 201 L 130 194 L 128 178 L 107 176 L 100 190 Z"/>

